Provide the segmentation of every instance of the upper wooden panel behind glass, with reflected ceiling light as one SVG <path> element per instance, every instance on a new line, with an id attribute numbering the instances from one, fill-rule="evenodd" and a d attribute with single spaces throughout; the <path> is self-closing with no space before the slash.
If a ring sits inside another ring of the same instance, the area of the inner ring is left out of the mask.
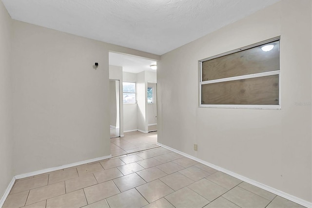
<path id="1" fill-rule="evenodd" d="M 279 41 L 272 44 L 271 51 L 264 52 L 259 45 L 202 62 L 202 81 L 279 70 Z"/>

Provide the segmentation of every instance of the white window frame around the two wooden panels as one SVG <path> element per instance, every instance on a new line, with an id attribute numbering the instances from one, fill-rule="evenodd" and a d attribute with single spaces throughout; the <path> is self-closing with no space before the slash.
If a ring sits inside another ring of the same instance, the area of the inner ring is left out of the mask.
<path id="1" fill-rule="evenodd" d="M 206 108 L 247 108 L 247 109 L 275 109 L 275 110 L 280 110 L 281 109 L 281 73 L 280 73 L 280 68 L 275 71 L 269 71 L 269 72 L 262 72 L 262 73 L 256 73 L 256 74 L 248 74 L 248 75 L 242 75 L 242 76 L 236 76 L 236 77 L 228 77 L 228 78 L 223 78 L 223 79 L 217 79 L 217 80 L 211 80 L 211 81 L 202 81 L 202 62 L 212 60 L 221 56 L 229 55 L 236 53 L 238 51 L 246 50 L 252 47 L 256 47 L 262 44 L 266 44 L 269 42 L 274 42 L 274 41 L 279 41 L 280 42 L 280 37 L 275 37 L 266 41 L 262 42 L 257 42 L 252 45 L 248 45 L 245 47 L 241 47 L 226 53 L 222 53 L 207 59 L 202 59 L 198 61 L 198 68 L 199 68 L 199 107 L 206 107 Z M 201 104 L 201 85 L 203 84 L 208 84 L 208 83 L 221 83 L 221 82 L 226 82 L 226 81 L 234 81 L 234 80 L 241 80 L 241 79 L 249 79 L 249 78 L 256 78 L 256 77 L 265 77 L 265 76 L 270 76 L 270 75 L 279 75 L 278 76 L 278 105 L 263 105 L 263 104 Z"/>

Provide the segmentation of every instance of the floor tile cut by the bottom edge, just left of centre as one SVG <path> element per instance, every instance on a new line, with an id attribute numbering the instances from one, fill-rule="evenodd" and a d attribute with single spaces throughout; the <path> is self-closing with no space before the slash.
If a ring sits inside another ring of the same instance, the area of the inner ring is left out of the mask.
<path id="1" fill-rule="evenodd" d="M 148 202 L 133 188 L 106 199 L 110 208 L 141 208 Z"/>

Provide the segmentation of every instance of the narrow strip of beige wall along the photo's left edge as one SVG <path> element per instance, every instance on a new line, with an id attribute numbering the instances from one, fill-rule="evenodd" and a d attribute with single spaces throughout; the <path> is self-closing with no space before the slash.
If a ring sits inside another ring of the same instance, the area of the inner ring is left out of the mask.
<path id="1" fill-rule="evenodd" d="M 0 1 L 0 199 L 13 178 L 12 21 Z"/>

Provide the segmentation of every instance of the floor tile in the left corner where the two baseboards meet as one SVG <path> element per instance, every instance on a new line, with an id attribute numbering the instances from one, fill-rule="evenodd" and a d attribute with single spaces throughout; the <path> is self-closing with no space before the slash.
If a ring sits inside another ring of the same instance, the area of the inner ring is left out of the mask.
<path id="1" fill-rule="evenodd" d="M 43 187 L 48 185 L 49 175 L 44 175 L 36 178 L 30 178 L 25 180 L 19 180 L 15 182 L 11 189 L 10 194 L 18 193 L 25 190 L 30 190 L 37 187 Z"/>

